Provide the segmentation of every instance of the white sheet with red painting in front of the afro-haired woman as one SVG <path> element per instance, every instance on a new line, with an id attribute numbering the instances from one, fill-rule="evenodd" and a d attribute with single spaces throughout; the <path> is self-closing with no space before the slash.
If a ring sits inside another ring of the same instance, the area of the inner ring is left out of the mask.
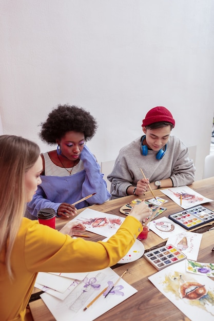
<path id="1" fill-rule="evenodd" d="M 73 218 L 73 220 L 82 222 L 87 231 L 106 237 L 114 235 L 124 219 L 124 217 L 118 215 L 102 213 L 89 208 Z"/>

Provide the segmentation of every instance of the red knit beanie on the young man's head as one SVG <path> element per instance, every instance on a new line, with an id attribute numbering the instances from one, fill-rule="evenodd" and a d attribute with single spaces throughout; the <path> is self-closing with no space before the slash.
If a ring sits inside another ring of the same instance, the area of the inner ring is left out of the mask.
<path id="1" fill-rule="evenodd" d="M 142 127 L 159 122 L 168 122 L 172 124 L 173 127 L 176 124 L 170 111 L 165 107 L 158 106 L 150 109 L 147 112 L 145 119 L 143 119 Z"/>

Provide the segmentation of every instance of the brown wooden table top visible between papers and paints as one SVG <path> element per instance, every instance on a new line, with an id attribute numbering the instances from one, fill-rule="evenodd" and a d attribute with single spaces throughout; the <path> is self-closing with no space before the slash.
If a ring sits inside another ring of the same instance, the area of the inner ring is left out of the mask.
<path id="1" fill-rule="evenodd" d="M 214 177 L 199 180 L 194 182 L 189 186 L 198 193 L 206 196 L 210 199 L 213 199 L 214 196 Z M 160 196 L 167 199 L 169 202 L 165 204 L 167 208 L 159 217 L 167 216 L 172 213 L 179 212 L 181 207 L 174 203 L 170 198 L 161 193 L 160 190 L 154 191 L 155 196 Z M 130 202 L 136 196 L 126 196 L 114 200 L 110 200 L 102 205 L 93 205 L 90 208 L 124 216 L 120 213 L 119 209 L 124 204 Z M 145 199 L 152 198 L 151 193 L 148 191 L 145 193 Z M 214 210 L 214 203 L 206 203 L 205 207 Z M 78 213 L 81 213 L 84 209 L 78 210 Z M 56 228 L 61 229 L 69 219 L 56 219 Z M 200 251 L 198 255 L 199 262 L 214 262 L 214 252 L 211 252 L 212 247 L 214 246 L 214 230 L 207 231 L 212 227 L 212 224 L 208 224 L 204 227 L 198 228 L 195 232 L 203 233 L 202 242 L 200 246 Z M 192 230 L 191 230 L 192 231 Z M 102 240 L 104 237 L 101 235 L 93 234 L 91 232 L 84 232 L 90 235 L 90 240 L 94 242 Z M 148 238 L 143 240 L 145 251 L 148 251 L 154 247 L 159 247 L 165 245 L 166 240 L 163 240 L 157 234 L 152 231 L 149 232 Z M 157 288 L 155 288 L 150 281 L 148 276 L 157 272 L 157 270 L 149 263 L 144 257 L 140 259 L 124 264 L 116 264 L 112 267 L 118 275 L 121 275 L 124 272 L 124 269 L 128 269 L 128 272 L 124 275 L 124 280 L 132 285 L 138 292 L 132 295 L 130 298 L 122 302 L 120 305 L 114 307 L 110 311 L 101 315 L 96 320 L 109 321 L 113 319 L 114 321 L 119 320 L 189 320 L 176 306 L 174 306 Z M 35 289 L 36 292 L 36 289 Z M 55 320 L 50 311 L 47 309 L 42 299 L 37 299 L 29 304 L 30 310 L 32 313 L 32 319 L 34 321 L 53 321 Z M 67 320 L 66 320 L 67 321 Z"/>

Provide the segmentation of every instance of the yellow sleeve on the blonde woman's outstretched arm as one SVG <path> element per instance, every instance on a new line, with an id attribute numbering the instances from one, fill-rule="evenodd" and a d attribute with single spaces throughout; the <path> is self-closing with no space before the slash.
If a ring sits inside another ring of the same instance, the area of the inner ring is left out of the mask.
<path id="1" fill-rule="evenodd" d="M 142 224 L 127 216 L 108 242 L 73 239 L 46 226 L 32 224 L 25 238 L 25 262 L 32 272 L 84 272 L 116 264 L 134 244 Z"/>

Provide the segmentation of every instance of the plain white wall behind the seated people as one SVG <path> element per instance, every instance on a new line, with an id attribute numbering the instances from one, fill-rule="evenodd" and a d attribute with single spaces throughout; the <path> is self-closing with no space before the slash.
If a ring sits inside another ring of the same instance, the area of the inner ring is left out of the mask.
<path id="1" fill-rule="evenodd" d="M 209 154 L 214 101 L 212 0 L 0 0 L 0 113 L 5 134 L 37 142 L 57 104 L 89 110 L 99 163 L 142 134 L 165 106 L 172 134 Z"/>

